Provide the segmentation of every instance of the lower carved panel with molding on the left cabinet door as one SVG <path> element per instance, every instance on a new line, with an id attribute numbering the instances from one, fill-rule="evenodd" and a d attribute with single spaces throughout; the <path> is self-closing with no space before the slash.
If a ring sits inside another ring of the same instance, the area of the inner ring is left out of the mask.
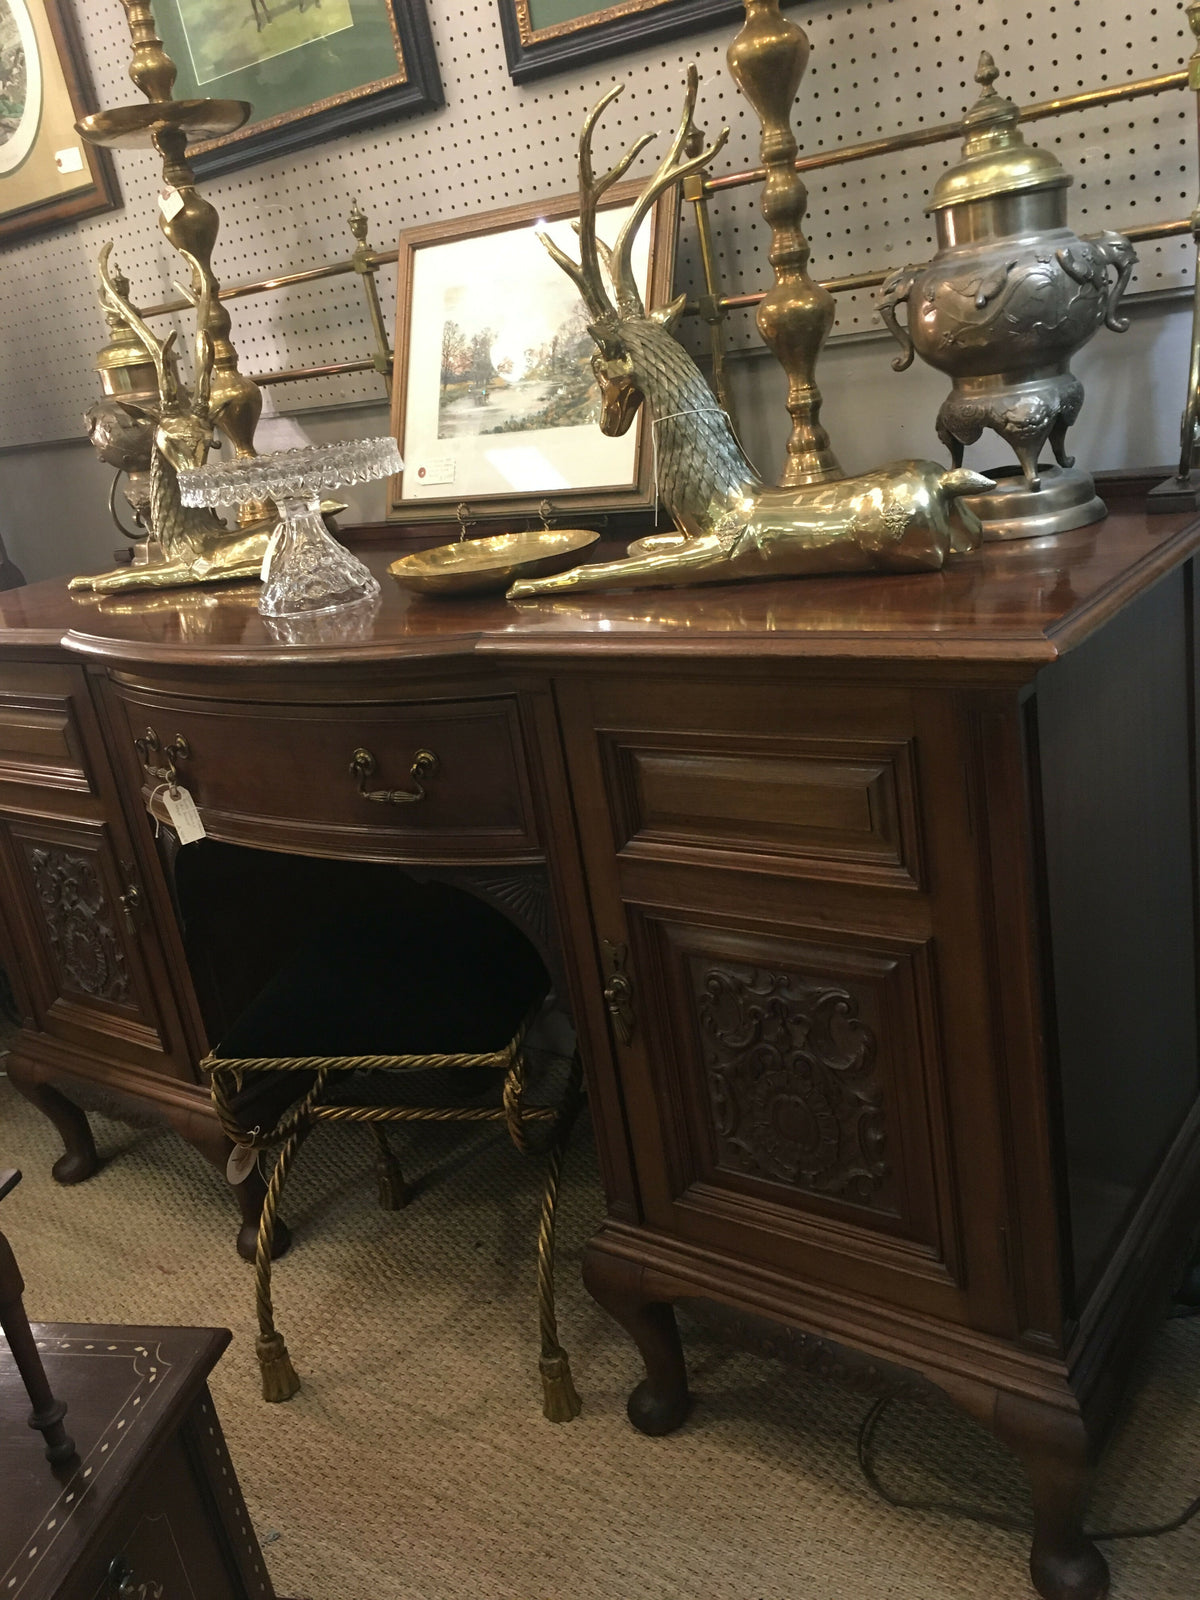
<path id="1" fill-rule="evenodd" d="M 0 882 L 37 1027 L 190 1078 L 157 998 L 170 990 L 120 826 L 0 819 Z"/>

